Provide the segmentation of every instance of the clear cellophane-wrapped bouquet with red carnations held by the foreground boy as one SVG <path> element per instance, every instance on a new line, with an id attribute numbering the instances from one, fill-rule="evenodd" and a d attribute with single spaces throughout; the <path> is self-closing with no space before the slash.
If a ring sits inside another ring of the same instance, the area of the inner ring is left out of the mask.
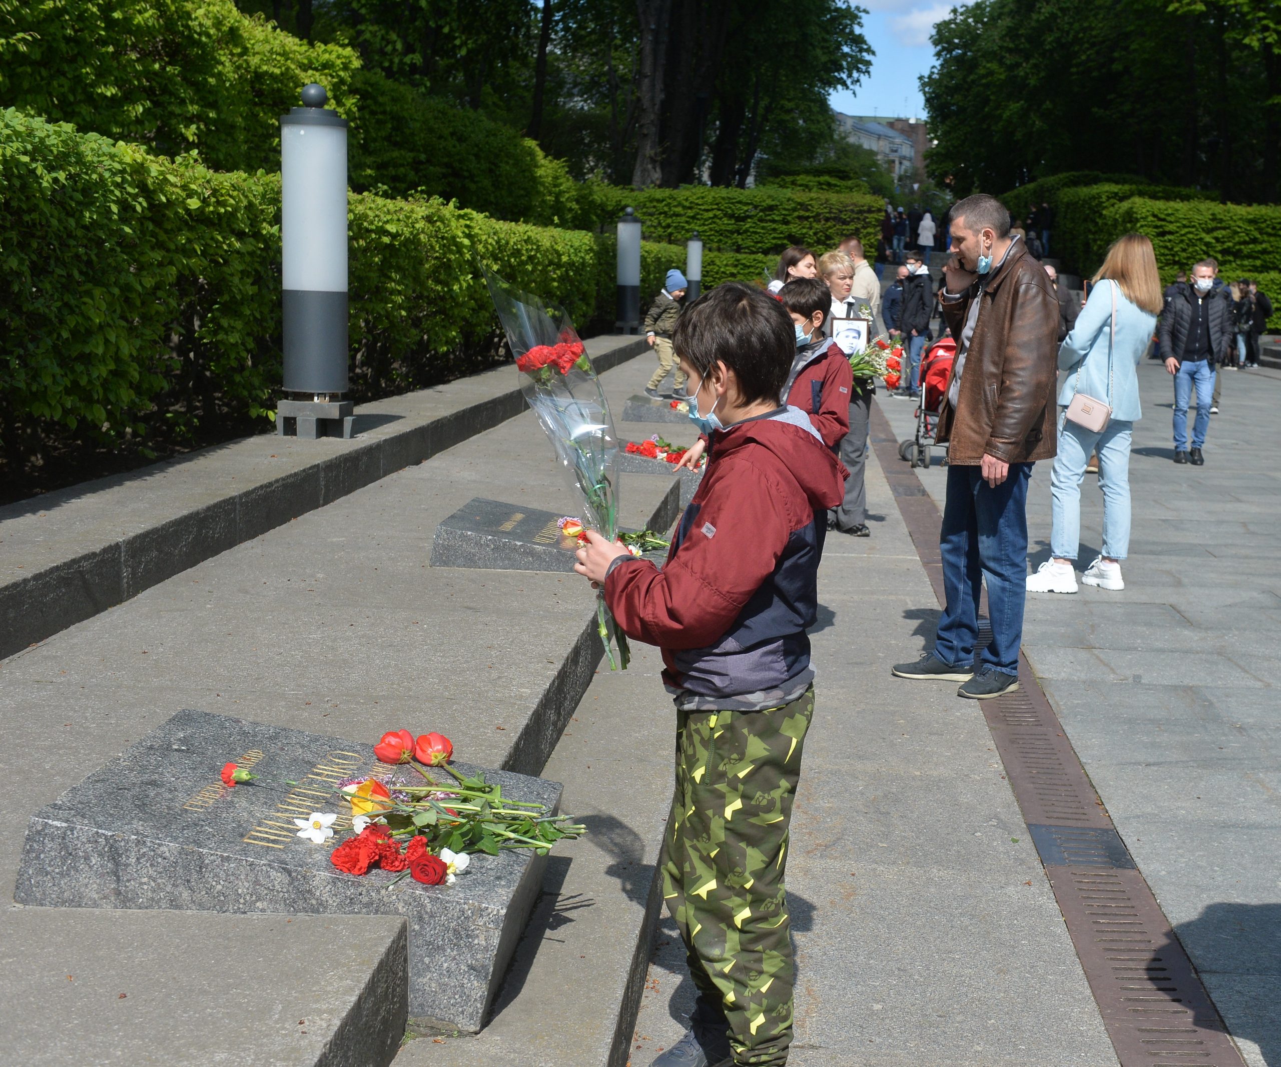
<path id="1" fill-rule="evenodd" d="M 615 541 L 619 526 L 619 443 L 596 369 L 569 315 L 548 309 L 492 272 L 489 296 L 507 334 L 520 391 L 556 451 L 560 468 L 583 500 L 583 517 Z M 597 593 L 597 621 L 610 669 L 626 669 L 626 634 Z M 615 653 L 615 647 L 617 652 Z"/>

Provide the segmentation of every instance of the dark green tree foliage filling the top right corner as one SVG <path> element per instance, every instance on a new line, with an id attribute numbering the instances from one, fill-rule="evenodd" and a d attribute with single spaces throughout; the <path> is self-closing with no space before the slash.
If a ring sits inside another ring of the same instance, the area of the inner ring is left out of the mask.
<path id="1" fill-rule="evenodd" d="M 976 0 L 934 31 L 930 173 L 958 195 L 1067 170 L 1277 197 L 1272 0 Z"/>

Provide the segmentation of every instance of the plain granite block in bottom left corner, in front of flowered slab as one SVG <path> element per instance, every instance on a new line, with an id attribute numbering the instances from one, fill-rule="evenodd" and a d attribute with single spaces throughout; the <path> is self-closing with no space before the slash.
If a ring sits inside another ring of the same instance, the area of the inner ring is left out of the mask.
<path id="1" fill-rule="evenodd" d="M 393 916 L 8 908 L 0 1061 L 382 1067 L 405 944 Z"/>

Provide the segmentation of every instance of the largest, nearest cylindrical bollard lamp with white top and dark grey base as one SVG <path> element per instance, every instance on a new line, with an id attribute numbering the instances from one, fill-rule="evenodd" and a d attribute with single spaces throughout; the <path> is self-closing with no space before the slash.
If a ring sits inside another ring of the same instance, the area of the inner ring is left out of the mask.
<path id="1" fill-rule="evenodd" d="M 347 120 L 304 87 L 301 108 L 281 115 L 281 243 L 284 391 L 277 430 L 296 421 L 315 437 L 342 420 L 347 392 Z M 283 415 L 283 419 L 281 418 Z M 318 421 L 319 420 L 319 421 Z"/>

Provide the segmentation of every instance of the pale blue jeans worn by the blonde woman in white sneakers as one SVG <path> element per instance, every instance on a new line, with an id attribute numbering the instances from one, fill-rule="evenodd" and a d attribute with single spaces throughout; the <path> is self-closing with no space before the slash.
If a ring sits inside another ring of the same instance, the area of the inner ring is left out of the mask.
<path id="1" fill-rule="evenodd" d="M 1130 551 L 1130 432 L 1134 423 L 1113 419 L 1100 433 L 1058 420 L 1058 455 L 1050 471 L 1054 528 L 1050 552 L 1057 560 L 1075 560 L 1081 546 L 1081 479 L 1090 452 L 1099 453 L 1099 488 L 1103 491 L 1103 555 L 1123 560 Z"/>

